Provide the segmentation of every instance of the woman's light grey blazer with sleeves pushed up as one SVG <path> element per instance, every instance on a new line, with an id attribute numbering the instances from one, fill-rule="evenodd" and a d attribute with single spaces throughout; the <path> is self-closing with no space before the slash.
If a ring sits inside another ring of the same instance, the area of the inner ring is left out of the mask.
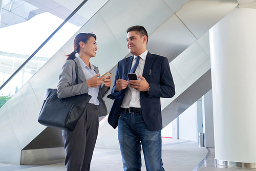
<path id="1" fill-rule="evenodd" d="M 74 61 L 76 61 L 77 67 L 78 67 L 78 70 L 77 70 L 78 84 L 75 84 L 75 81 L 76 81 L 75 67 L 76 66 Z M 61 69 L 61 72 L 59 74 L 59 83 L 57 86 L 58 98 L 67 98 L 71 96 L 88 93 L 86 77 L 84 76 L 80 62 L 77 58 L 75 58 L 74 61 L 67 60 Z M 94 70 L 96 73 L 99 73 L 98 67 L 94 66 Z M 105 90 L 104 84 L 103 86 L 100 86 L 99 94 L 98 94 L 99 116 L 105 116 L 106 114 L 108 114 L 103 97 L 109 92 L 109 90 L 110 88 L 108 90 Z"/>

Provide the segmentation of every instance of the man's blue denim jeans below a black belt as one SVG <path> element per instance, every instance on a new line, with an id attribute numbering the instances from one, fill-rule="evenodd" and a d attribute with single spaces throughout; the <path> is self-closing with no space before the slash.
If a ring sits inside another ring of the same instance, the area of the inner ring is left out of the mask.
<path id="1" fill-rule="evenodd" d="M 125 171 L 141 170 L 140 143 L 142 144 L 146 170 L 164 171 L 161 130 L 148 130 L 142 114 L 120 111 L 118 140 Z"/>

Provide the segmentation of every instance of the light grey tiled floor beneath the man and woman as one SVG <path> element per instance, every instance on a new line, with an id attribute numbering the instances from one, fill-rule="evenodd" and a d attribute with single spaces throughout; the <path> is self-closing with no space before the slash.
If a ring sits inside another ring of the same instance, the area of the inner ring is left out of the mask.
<path id="1" fill-rule="evenodd" d="M 166 171 L 240 171 L 242 168 L 227 168 L 214 163 L 214 148 L 199 147 L 198 143 L 163 138 L 162 159 Z M 142 155 L 143 157 L 143 155 Z M 206 160 L 207 159 L 207 160 Z M 1 171 L 65 171 L 63 160 L 40 163 L 36 165 L 11 165 L 1 164 Z M 91 171 L 121 171 L 123 170 L 122 158 L 119 150 L 100 149 L 94 151 Z M 142 171 L 145 164 L 142 163 Z M 253 169 L 256 170 L 256 169 Z"/>

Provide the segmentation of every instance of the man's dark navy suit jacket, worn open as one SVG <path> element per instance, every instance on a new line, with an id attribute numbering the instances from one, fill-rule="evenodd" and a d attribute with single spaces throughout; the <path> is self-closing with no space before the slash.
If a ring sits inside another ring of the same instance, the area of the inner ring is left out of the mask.
<path id="1" fill-rule="evenodd" d="M 115 83 L 118 79 L 127 79 L 127 73 L 130 72 L 133 56 L 120 60 L 117 64 Z M 150 131 L 157 131 L 163 128 L 160 97 L 170 98 L 175 95 L 175 86 L 168 59 L 163 56 L 147 53 L 145 66 L 142 76 L 150 84 L 150 94 L 140 92 L 140 103 L 143 119 Z M 124 91 L 114 92 L 116 84 L 114 83 L 112 94 L 108 97 L 115 99 L 108 121 L 110 125 L 117 127 L 120 106 L 123 101 Z"/>

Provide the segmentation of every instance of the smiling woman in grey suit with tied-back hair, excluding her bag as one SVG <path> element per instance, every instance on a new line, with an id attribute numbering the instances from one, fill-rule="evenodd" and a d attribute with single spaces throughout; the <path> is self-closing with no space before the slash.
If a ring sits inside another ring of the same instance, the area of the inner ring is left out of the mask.
<path id="1" fill-rule="evenodd" d="M 99 116 L 107 114 L 102 98 L 110 90 L 111 77 L 99 77 L 98 68 L 90 62 L 90 58 L 96 56 L 97 49 L 95 34 L 79 33 L 74 40 L 74 52 L 67 55 L 67 61 L 59 75 L 57 86 L 58 98 L 79 94 L 89 94 L 92 96 L 87 105 L 86 112 L 77 122 L 74 131 L 62 130 L 67 171 L 90 170 L 90 163 L 98 135 Z M 79 54 L 78 57 L 75 56 L 76 53 Z M 75 84 L 75 62 L 78 67 L 78 84 Z"/>

